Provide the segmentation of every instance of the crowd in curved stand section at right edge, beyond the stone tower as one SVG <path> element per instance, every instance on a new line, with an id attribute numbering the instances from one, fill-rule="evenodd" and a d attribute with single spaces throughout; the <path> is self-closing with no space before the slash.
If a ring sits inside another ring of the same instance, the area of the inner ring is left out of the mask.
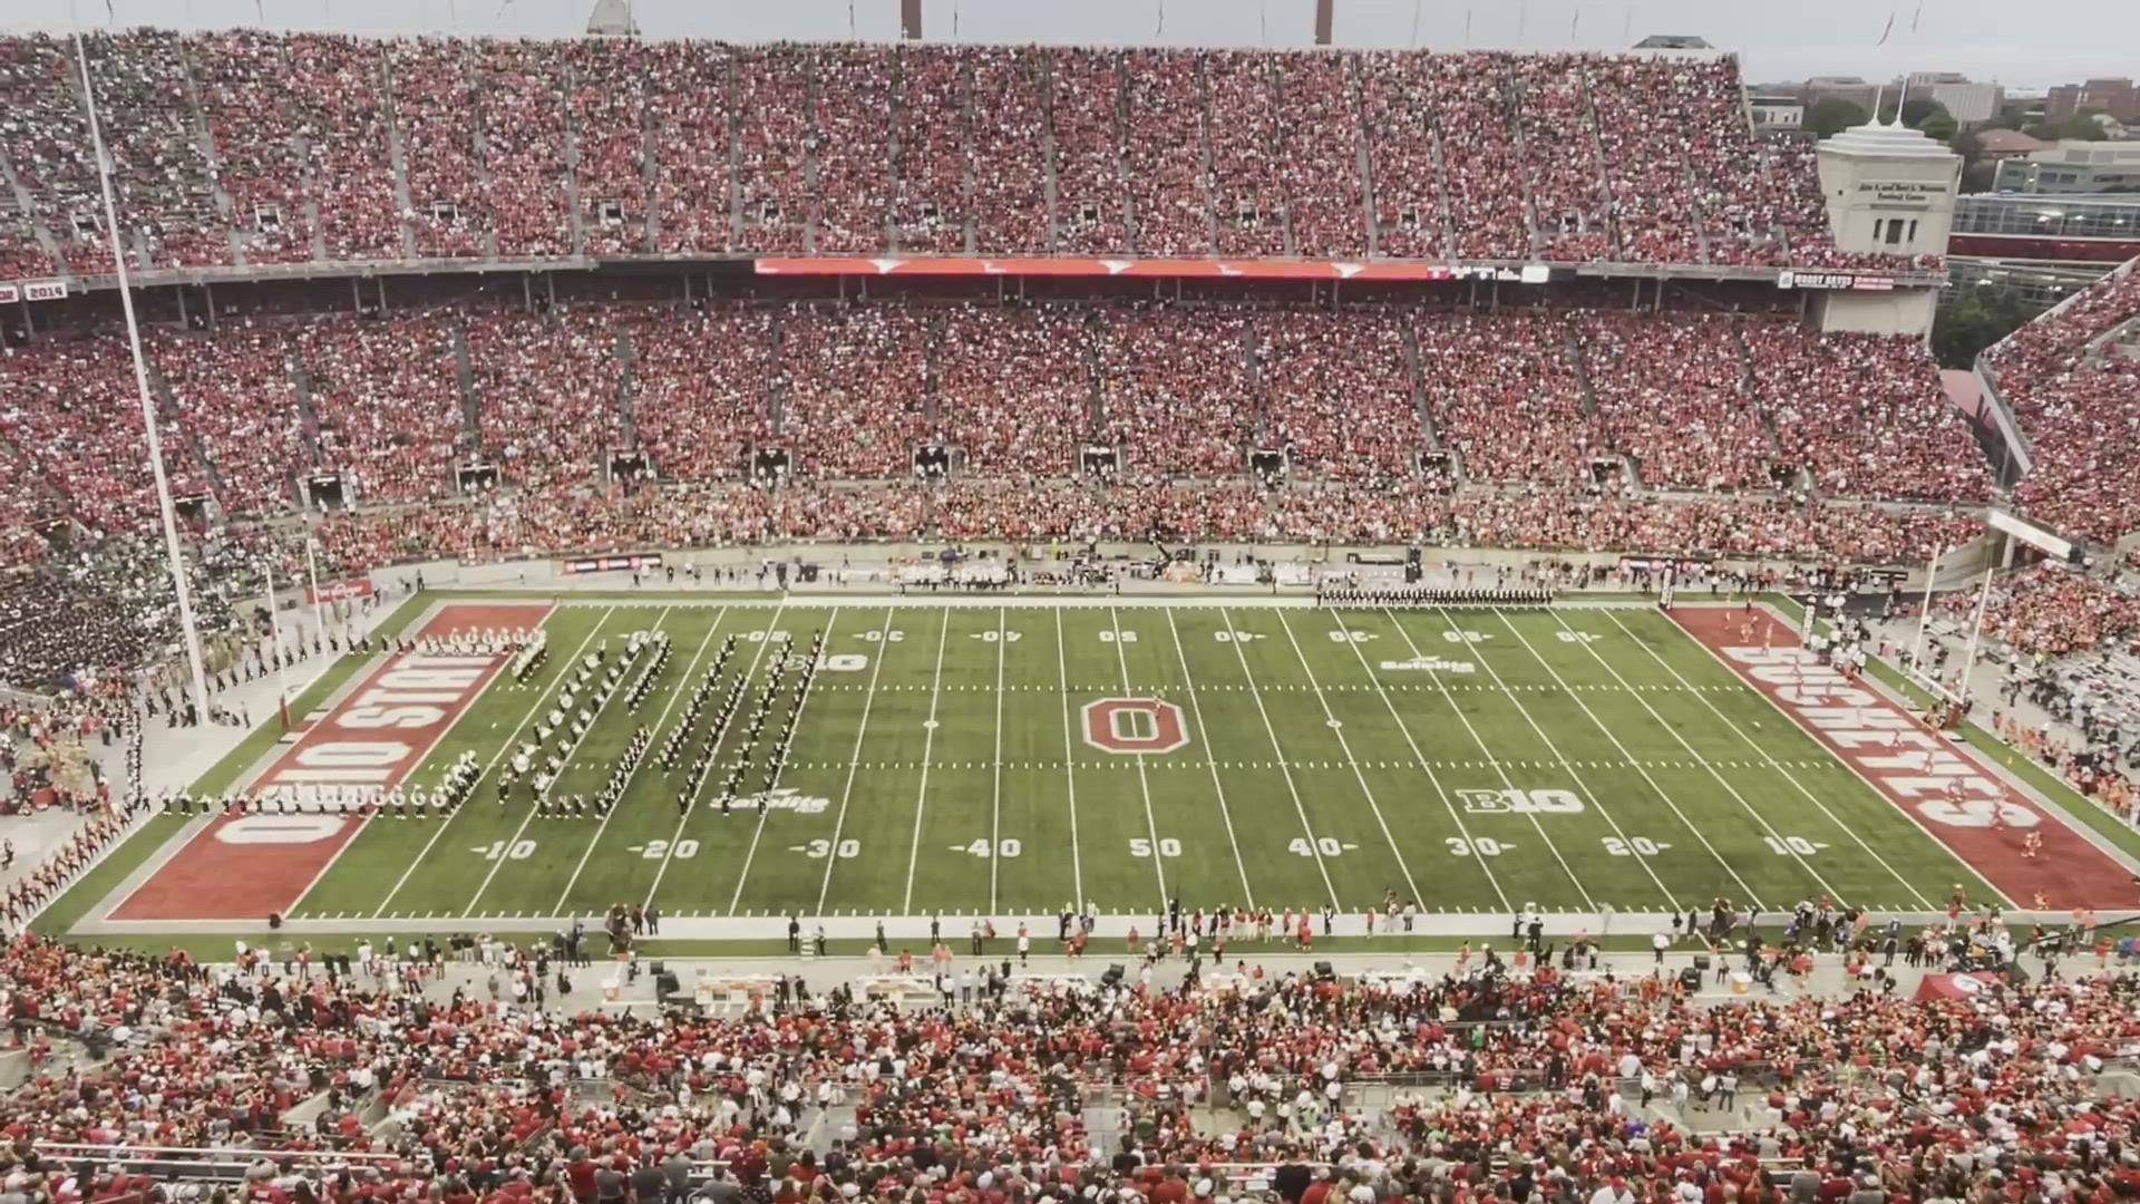
<path id="1" fill-rule="evenodd" d="M 1986 353 L 2029 439 L 2014 491 L 2029 516 L 2112 544 L 2140 529 L 2140 360 L 2119 328 L 2140 317 L 2140 272 L 2106 276 Z M 2127 345 L 2127 347 L 2121 347 Z"/>

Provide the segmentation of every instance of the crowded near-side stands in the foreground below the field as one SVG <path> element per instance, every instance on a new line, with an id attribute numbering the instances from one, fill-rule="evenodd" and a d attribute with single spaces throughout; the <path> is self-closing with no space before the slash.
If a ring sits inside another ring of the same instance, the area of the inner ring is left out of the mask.
<path id="1" fill-rule="evenodd" d="M 2099 1090 L 2106 1063 L 2140 1050 L 2129 975 L 1697 1009 L 1650 979 L 1558 968 L 1395 990 L 1250 970 L 1224 990 L 1014 979 L 999 1003 L 922 1013 L 815 996 L 657 1018 L 501 1003 L 501 985 L 531 988 L 546 966 L 488 936 L 490 998 L 417 1005 L 437 962 L 364 953 L 349 975 L 306 955 L 285 977 L 257 955 L 210 973 L 184 953 L 11 940 L 4 1020 L 30 1037 L 32 1075 L 6 1093 L 9 1123 L 43 1142 L 240 1146 L 263 1159 L 250 1195 L 287 1178 L 297 1200 L 426 1183 L 443 1200 L 574 1185 L 591 1198 L 597 1168 L 668 1157 L 721 1159 L 734 1189 L 794 1202 L 1226 1200 L 1241 1185 L 1224 1168 L 1241 1163 L 1295 1163 L 1248 1189 L 1288 1204 L 1774 1204 L 1800 1183 L 1834 1200 L 1988 1200 L 2009 1176 L 2044 1198 L 2114 1200 L 2136 1178 L 2116 1155 L 2136 1103 Z M 1789 973 L 1789 951 L 1776 958 Z M 45 1069 L 58 1041 L 92 1030 L 116 1037 L 103 1060 Z M 1348 1103 L 1400 1073 L 1459 1090 L 1400 1090 L 1380 1116 Z M 571 1078 L 618 1097 L 578 1103 Z M 1102 1084 L 1119 1093 L 1119 1148 L 1085 1127 L 1083 1090 Z M 1637 1084 L 1658 1110 L 1635 1112 L 1622 1086 Z M 312 1097 L 325 1108 L 282 1127 Z M 398 1135 L 366 1129 L 374 1101 Z M 828 1133 L 830 1157 L 802 1155 L 828 1105 L 852 1120 Z M 1701 1133 L 1699 1108 L 1766 1120 Z M 400 1161 L 360 1161 L 372 1155 Z M 24 1161 L 11 1180 L 58 1195 L 58 1180 L 30 1183 L 49 1165 Z"/>

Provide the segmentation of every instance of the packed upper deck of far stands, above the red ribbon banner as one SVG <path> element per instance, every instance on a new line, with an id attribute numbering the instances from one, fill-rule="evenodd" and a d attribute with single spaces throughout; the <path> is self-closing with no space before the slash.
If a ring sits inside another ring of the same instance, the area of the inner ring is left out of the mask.
<path id="1" fill-rule="evenodd" d="M 86 39 L 137 268 L 631 253 L 1825 266 L 1733 58 Z M 101 274 L 73 47 L 0 39 L 0 274 Z M 1053 201 L 1046 182 L 1053 178 Z"/>

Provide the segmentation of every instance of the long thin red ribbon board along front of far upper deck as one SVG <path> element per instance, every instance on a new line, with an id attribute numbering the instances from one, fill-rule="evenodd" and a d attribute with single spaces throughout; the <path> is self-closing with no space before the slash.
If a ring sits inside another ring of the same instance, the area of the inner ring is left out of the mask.
<path id="1" fill-rule="evenodd" d="M 1573 279 L 1573 268 L 1545 264 L 1457 266 L 1408 259 L 758 259 L 760 276 L 1132 276 L 1153 281 L 1498 281 L 1543 285 Z"/>

